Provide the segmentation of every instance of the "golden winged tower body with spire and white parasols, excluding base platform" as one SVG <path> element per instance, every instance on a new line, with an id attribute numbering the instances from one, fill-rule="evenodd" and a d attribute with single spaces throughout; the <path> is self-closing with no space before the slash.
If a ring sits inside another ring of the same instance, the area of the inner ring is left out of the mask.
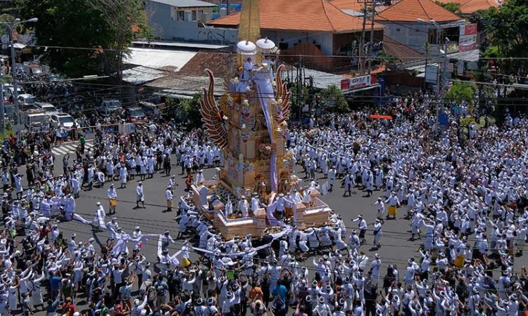
<path id="1" fill-rule="evenodd" d="M 288 171 L 283 162 L 283 131 L 289 117 L 290 93 L 280 77 L 282 66 L 277 69 L 275 81 L 272 70 L 260 65 L 260 53 L 270 51 L 275 44 L 258 39 L 258 11 L 258 0 L 244 0 L 237 44 L 239 74 L 225 79 L 229 92 L 217 105 L 213 98 L 213 74 L 206 70 L 210 84 L 201 100 L 206 133 L 224 150 L 222 186 L 234 197 L 253 192 L 267 197 L 270 192 L 277 192 L 282 171 Z M 256 65 L 245 63 L 248 57 L 256 60 Z"/>

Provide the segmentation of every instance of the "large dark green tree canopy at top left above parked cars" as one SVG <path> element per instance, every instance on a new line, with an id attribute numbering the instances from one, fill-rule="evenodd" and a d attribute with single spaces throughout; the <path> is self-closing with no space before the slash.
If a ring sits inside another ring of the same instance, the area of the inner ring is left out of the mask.
<path id="1" fill-rule="evenodd" d="M 137 30 L 148 32 L 142 0 L 17 0 L 34 25 L 44 60 L 68 77 L 120 75 Z M 142 36 L 142 34 L 140 34 Z"/>

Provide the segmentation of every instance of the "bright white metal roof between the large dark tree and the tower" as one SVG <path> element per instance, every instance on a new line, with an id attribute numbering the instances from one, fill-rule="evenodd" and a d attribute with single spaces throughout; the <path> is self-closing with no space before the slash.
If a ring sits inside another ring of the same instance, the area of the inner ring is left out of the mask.
<path id="1" fill-rule="evenodd" d="M 125 63 L 154 69 L 180 71 L 196 55 L 191 51 L 166 51 L 163 49 L 130 48 Z"/>

